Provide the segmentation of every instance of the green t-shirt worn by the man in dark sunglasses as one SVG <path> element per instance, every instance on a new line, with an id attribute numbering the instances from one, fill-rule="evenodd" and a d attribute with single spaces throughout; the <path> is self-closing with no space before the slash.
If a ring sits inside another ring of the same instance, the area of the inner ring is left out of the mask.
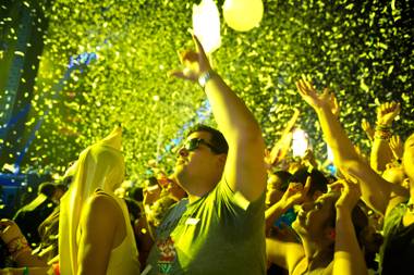
<path id="1" fill-rule="evenodd" d="M 148 274 L 266 274 L 265 193 L 248 202 L 222 180 L 175 204 L 157 229 Z"/>

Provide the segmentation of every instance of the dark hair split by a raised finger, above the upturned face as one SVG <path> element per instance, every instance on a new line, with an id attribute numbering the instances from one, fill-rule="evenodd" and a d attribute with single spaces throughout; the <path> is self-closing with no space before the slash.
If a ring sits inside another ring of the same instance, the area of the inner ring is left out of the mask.
<path id="1" fill-rule="evenodd" d="M 300 168 L 291 177 L 290 183 L 300 183 L 305 185 L 307 177 L 310 176 L 310 187 L 307 191 L 309 197 L 314 196 L 316 191 L 326 192 L 328 190 L 328 179 L 325 175 L 316 168 Z"/>

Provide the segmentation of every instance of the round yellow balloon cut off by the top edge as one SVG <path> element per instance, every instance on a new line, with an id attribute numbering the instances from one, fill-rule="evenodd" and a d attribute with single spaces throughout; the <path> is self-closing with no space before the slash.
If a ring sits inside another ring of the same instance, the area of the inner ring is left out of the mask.
<path id="1" fill-rule="evenodd" d="M 261 0 L 226 0 L 223 4 L 226 23 L 239 32 L 247 32 L 258 26 L 263 12 Z"/>

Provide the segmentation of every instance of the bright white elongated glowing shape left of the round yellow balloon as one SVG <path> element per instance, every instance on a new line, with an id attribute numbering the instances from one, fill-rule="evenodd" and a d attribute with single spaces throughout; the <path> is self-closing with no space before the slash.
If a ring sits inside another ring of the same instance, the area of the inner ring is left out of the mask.
<path id="1" fill-rule="evenodd" d="M 193 32 L 207 53 L 220 47 L 220 15 L 212 0 L 203 0 L 198 5 L 193 5 Z"/>

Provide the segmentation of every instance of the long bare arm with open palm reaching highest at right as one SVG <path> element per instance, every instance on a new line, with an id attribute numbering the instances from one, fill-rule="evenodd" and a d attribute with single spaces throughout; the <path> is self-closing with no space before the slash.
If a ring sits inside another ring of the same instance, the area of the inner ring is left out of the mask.
<path id="1" fill-rule="evenodd" d="M 337 167 L 356 177 L 361 183 L 364 201 L 380 213 L 386 213 L 391 191 L 397 196 L 407 197 L 403 188 L 391 185 L 382 179 L 367 163 L 360 159 L 351 140 L 348 138 L 339 121 L 330 109 L 330 98 L 327 90 L 317 95 L 313 85 L 301 79 L 296 83 L 299 93 L 316 111 L 327 143 L 332 149 Z"/>

